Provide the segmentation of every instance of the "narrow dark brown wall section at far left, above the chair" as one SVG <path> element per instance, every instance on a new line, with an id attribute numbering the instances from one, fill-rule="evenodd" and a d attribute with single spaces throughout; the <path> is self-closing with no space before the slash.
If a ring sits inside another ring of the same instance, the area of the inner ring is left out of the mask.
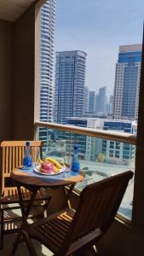
<path id="1" fill-rule="evenodd" d="M 10 139 L 12 129 L 14 25 L 0 20 L 0 139 Z"/>

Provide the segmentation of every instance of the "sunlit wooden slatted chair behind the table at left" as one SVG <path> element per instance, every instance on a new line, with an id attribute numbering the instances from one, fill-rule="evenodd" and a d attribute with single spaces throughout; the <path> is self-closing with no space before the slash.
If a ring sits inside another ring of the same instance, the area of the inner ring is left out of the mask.
<path id="1" fill-rule="evenodd" d="M 43 143 L 40 141 L 31 141 L 30 142 L 32 149 L 32 160 L 37 160 L 37 150 L 40 150 L 42 155 Z M 2 172 L 2 191 L 1 191 L 1 200 L 0 200 L 0 247 L 3 248 L 3 234 L 15 231 L 14 217 L 8 216 L 6 212 L 8 210 L 13 210 L 20 208 L 19 206 L 14 206 L 14 204 L 19 203 L 19 196 L 17 188 L 14 187 L 12 180 L 10 179 L 10 172 L 18 166 L 22 166 L 22 161 L 24 157 L 26 147 L 26 141 L 5 141 L 1 143 L 1 148 L 3 149 L 3 172 Z M 29 190 L 22 188 L 23 200 L 28 202 L 31 197 Z M 37 193 L 36 201 L 41 202 L 43 205 L 44 211 L 48 207 L 50 197 L 49 195 L 44 195 L 44 190 L 39 190 Z M 40 205 L 37 204 L 38 206 Z M 20 217 L 19 217 L 20 218 Z M 18 219 L 18 218 L 16 218 Z"/>

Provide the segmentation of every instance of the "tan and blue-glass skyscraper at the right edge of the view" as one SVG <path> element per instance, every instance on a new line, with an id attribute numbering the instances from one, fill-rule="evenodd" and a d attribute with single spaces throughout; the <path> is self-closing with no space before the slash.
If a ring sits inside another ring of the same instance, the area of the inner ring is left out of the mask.
<path id="1" fill-rule="evenodd" d="M 141 49 L 141 44 L 119 47 L 113 98 L 114 119 L 137 119 Z"/>

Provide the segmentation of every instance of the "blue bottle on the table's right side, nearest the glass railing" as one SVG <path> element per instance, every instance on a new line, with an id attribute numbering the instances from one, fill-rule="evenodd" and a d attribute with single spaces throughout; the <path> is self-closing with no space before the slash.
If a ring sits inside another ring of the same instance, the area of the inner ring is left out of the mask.
<path id="1" fill-rule="evenodd" d="M 78 145 L 74 145 L 70 171 L 72 175 L 78 175 L 79 170 L 80 170 L 80 164 L 78 159 Z"/>

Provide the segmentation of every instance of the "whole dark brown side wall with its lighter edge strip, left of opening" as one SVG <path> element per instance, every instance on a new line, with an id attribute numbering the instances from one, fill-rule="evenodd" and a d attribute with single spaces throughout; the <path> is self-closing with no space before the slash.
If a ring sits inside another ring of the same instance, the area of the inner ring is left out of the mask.
<path id="1" fill-rule="evenodd" d="M 0 140 L 32 139 L 40 75 L 40 6 L 35 9 L 33 4 L 15 22 L 0 20 L 0 34 Z"/>

